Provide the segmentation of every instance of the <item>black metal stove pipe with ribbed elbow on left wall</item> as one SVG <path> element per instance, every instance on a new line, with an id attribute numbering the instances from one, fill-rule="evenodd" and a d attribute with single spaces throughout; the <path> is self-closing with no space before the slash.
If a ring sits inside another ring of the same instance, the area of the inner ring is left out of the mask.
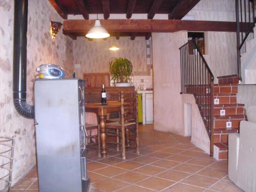
<path id="1" fill-rule="evenodd" d="M 14 0 L 13 103 L 20 115 L 34 119 L 34 105 L 27 103 L 27 29 L 28 0 Z"/>

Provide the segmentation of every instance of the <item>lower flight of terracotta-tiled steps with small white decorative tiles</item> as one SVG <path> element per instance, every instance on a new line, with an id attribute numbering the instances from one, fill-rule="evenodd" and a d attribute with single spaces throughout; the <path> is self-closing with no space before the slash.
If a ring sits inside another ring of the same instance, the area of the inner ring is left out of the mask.
<path id="1" fill-rule="evenodd" d="M 227 159 L 228 135 L 239 133 L 241 120 L 245 120 L 244 104 L 237 103 L 238 75 L 217 77 L 219 84 L 214 84 L 214 157 Z M 216 100 L 217 101 L 217 100 Z M 215 101 L 215 102 L 216 102 Z M 222 115 L 224 114 L 225 115 Z"/>

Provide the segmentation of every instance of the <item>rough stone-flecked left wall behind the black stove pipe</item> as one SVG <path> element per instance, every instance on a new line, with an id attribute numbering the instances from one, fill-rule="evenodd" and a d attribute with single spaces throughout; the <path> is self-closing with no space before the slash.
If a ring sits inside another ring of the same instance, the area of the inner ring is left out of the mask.
<path id="1" fill-rule="evenodd" d="M 50 19 L 61 21 L 49 1 L 29 0 L 27 46 L 27 100 L 33 103 L 33 83 L 36 67 L 56 63 L 73 73 L 73 41 L 58 33 L 55 45 L 50 36 Z M 13 183 L 35 164 L 34 121 L 17 114 L 12 102 L 14 1 L 0 1 L 0 136 L 16 135 Z"/>

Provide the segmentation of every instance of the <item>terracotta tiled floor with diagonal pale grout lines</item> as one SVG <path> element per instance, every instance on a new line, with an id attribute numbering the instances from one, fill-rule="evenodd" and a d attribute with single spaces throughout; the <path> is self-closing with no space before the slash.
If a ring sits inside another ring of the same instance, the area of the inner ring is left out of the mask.
<path id="1" fill-rule="evenodd" d="M 122 160 L 109 147 L 101 159 L 90 148 L 88 170 L 90 191 L 242 191 L 229 181 L 226 161 L 210 158 L 189 137 L 155 132 L 151 125 L 140 126 L 139 155 L 130 150 Z M 36 168 L 11 191 L 37 192 Z"/>

